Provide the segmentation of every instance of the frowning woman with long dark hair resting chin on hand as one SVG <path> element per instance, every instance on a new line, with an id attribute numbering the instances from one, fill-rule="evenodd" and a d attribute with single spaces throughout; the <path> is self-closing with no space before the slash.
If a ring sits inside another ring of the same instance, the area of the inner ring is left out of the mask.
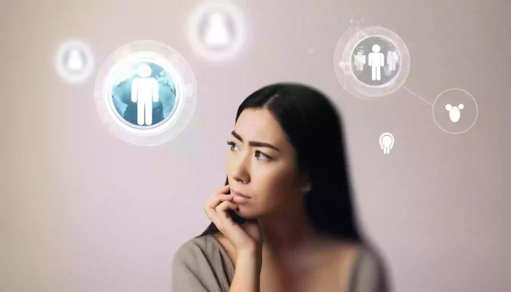
<path id="1" fill-rule="evenodd" d="M 387 291 L 362 239 L 341 121 L 311 87 L 278 83 L 238 108 L 227 179 L 206 201 L 212 223 L 180 246 L 175 292 Z"/>

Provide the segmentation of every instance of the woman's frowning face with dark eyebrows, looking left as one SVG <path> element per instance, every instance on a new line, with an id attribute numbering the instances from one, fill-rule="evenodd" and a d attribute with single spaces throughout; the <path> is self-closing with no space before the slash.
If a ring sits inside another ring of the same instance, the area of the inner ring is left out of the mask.
<path id="1" fill-rule="evenodd" d="M 303 206 L 309 189 L 299 176 L 294 149 L 280 124 L 267 109 L 245 109 L 230 135 L 227 177 L 231 194 L 250 199 L 236 201 L 237 213 L 247 219 Z"/>

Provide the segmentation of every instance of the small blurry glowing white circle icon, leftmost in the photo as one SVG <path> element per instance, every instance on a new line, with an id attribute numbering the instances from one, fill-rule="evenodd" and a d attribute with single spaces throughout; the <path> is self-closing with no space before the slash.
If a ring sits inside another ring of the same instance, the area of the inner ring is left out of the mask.
<path id="1" fill-rule="evenodd" d="M 55 65 L 57 73 L 69 83 L 85 81 L 94 70 L 92 50 L 83 41 L 69 40 L 57 50 Z"/>

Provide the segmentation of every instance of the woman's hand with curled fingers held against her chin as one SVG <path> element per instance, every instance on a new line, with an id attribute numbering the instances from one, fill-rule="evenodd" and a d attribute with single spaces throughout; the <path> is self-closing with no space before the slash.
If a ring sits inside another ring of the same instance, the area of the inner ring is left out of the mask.
<path id="1" fill-rule="evenodd" d="M 247 220 L 239 225 L 230 218 L 227 211 L 238 210 L 238 206 L 232 202 L 234 195 L 226 194 L 229 185 L 215 191 L 206 201 L 204 211 L 218 230 L 234 246 L 236 252 L 261 252 L 263 246 L 263 234 L 257 220 Z"/>

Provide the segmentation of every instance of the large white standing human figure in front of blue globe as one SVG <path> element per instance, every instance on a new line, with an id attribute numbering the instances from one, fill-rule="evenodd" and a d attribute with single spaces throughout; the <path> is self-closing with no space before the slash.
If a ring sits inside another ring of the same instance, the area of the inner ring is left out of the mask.
<path id="1" fill-rule="evenodd" d="M 151 67 L 142 64 L 138 67 L 137 74 L 141 78 L 135 78 L 131 82 L 131 101 L 137 105 L 137 123 L 138 125 L 151 125 L 153 122 L 153 102 L 157 102 L 158 81 L 154 78 L 148 78 L 151 75 Z"/>

